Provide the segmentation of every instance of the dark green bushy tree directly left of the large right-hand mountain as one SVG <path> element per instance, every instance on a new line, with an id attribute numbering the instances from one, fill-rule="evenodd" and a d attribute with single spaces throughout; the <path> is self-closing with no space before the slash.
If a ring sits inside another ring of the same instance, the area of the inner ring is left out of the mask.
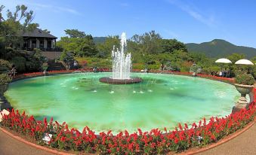
<path id="1" fill-rule="evenodd" d="M 173 53 L 174 50 L 182 50 L 187 52 L 187 47 L 184 43 L 176 39 L 162 39 L 161 40 L 162 53 Z"/>

